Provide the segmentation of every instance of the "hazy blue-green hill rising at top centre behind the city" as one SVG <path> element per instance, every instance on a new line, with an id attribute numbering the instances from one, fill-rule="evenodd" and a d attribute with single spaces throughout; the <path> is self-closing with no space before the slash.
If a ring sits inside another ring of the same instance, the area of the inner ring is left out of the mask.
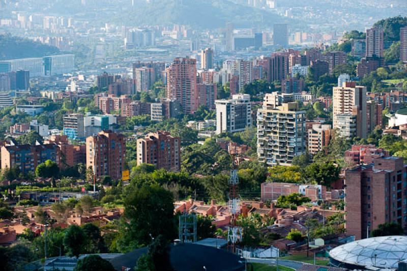
<path id="1" fill-rule="evenodd" d="M 271 26 L 289 19 L 266 10 L 232 3 L 228 0 L 155 0 L 151 4 L 139 4 L 134 10 L 116 17 L 132 24 L 179 23 L 201 28 L 218 28 L 227 21 L 237 27 L 256 28 Z"/>

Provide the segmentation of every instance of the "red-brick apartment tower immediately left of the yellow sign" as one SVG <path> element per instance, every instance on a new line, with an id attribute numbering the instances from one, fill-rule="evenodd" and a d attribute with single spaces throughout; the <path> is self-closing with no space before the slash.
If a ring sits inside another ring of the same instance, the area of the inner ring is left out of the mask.
<path id="1" fill-rule="evenodd" d="M 111 130 L 86 138 L 86 168 L 92 167 L 96 177 L 121 179 L 126 155 L 126 138 Z"/>

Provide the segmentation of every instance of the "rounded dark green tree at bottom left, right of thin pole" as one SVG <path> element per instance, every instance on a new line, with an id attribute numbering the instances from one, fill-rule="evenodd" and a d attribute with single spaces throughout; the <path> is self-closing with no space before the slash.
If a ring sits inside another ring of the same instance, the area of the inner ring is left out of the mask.
<path id="1" fill-rule="evenodd" d="M 81 227 L 71 225 L 66 229 L 63 243 L 69 256 L 78 258 L 85 252 L 86 242 L 87 236 Z"/>

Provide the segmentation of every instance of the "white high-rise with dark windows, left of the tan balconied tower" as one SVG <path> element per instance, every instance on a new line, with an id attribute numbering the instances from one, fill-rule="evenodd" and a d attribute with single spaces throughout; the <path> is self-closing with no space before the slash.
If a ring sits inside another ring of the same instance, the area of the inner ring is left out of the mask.
<path id="1" fill-rule="evenodd" d="M 231 99 L 216 100 L 216 134 L 244 131 L 252 126 L 249 94 L 235 94 Z"/>

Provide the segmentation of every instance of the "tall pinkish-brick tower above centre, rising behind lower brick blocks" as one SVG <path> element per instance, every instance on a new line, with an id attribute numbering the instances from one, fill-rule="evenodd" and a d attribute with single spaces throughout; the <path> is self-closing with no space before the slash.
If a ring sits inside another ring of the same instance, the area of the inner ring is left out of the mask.
<path id="1" fill-rule="evenodd" d="M 184 114 L 198 109 L 195 59 L 176 58 L 167 68 L 167 98 L 179 100 Z"/>

